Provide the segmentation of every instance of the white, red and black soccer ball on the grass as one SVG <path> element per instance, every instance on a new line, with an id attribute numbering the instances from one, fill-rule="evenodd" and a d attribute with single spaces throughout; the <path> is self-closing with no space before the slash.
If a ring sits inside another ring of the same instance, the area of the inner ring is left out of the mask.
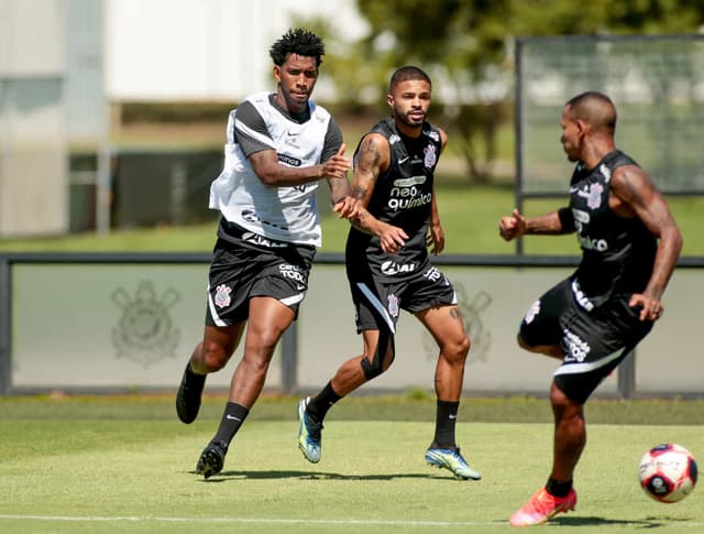
<path id="1" fill-rule="evenodd" d="M 660 502 L 678 502 L 696 484 L 696 461 L 681 445 L 662 444 L 644 455 L 638 476 L 648 497 Z"/>

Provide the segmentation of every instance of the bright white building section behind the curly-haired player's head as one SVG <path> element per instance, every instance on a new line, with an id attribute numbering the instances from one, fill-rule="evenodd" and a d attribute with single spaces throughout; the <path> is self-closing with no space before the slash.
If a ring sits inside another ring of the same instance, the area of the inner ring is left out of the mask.
<path id="1" fill-rule="evenodd" d="M 351 40 L 366 32 L 355 0 L 106 0 L 108 97 L 237 101 L 272 87 L 270 46 L 315 18 Z"/>

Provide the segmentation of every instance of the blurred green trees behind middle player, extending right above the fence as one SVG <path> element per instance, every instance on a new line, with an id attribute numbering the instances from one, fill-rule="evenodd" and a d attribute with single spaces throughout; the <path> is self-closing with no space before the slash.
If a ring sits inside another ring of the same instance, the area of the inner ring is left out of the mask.
<path id="1" fill-rule="evenodd" d="M 350 106 L 383 102 L 389 74 L 417 64 L 433 79 L 433 108 L 452 133 L 470 179 L 492 177 L 496 133 L 510 119 L 516 36 L 664 34 L 704 24 L 702 0 L 356 0 L 370 33 L 336 46 L 327 68 Z"/>

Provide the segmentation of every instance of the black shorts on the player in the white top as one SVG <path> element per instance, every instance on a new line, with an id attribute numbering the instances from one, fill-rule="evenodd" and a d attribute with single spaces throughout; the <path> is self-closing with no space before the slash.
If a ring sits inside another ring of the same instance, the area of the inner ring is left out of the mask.
<path id="1" fill-rule="evenodd" d="M 218 238 L 208 283 L 206 325 L 230 326 L 249 317 L 250 298 L 271 296 L 298 315 L 316 248 L 230 231 Z M 273 247 L 272 247 L 273 246 Z"/>

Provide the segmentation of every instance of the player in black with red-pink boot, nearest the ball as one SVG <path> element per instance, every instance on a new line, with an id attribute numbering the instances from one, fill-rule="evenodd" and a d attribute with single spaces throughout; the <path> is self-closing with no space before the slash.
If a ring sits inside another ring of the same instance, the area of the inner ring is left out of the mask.
<path id="1" fill-rule="evenodd" d="M 562 148 L 576 162 L 569 206 L 499 221 L 509 241 L 524 235 L 576 232 L 582 261 L 544 293 L 520 323 L 518 345 L 561 360 L 550 388 L 554 414 L 552 471 L 509 522 L 537 525 L 573 510 L 574 468 L 586 443 L 583 406 L 592 392 L 662 316 L 660 299 L 682 237 L 652 179 L 616 149 L 616 108 L 601 92 L 570 99 Z"/>

